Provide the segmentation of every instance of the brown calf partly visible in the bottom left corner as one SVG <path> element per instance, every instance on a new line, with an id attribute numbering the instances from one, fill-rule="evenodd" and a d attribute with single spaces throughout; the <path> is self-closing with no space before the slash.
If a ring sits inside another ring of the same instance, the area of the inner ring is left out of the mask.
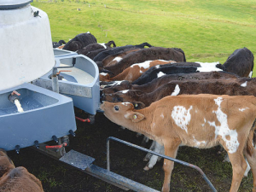
<path id="1" fill-rule="evenodd" d="M 37 177 L 23 166 L 15 168 L 6 152 L 0 149 L 0 191 L 44 192 L 44 189 Z"/>

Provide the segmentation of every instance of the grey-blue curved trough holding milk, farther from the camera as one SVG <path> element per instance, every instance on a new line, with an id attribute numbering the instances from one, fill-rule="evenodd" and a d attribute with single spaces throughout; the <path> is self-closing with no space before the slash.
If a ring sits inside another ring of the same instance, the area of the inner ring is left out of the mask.
<path id="1" fill-rule="evenodd" d="M 84 55 L 55 55 L 59 91 L 73 98 L 75 107 L 86 113 L 96 114 L 100 103 L 99 70 L 96 63 Z M 33 84 L 52 90 L 50 71 Z"/>

